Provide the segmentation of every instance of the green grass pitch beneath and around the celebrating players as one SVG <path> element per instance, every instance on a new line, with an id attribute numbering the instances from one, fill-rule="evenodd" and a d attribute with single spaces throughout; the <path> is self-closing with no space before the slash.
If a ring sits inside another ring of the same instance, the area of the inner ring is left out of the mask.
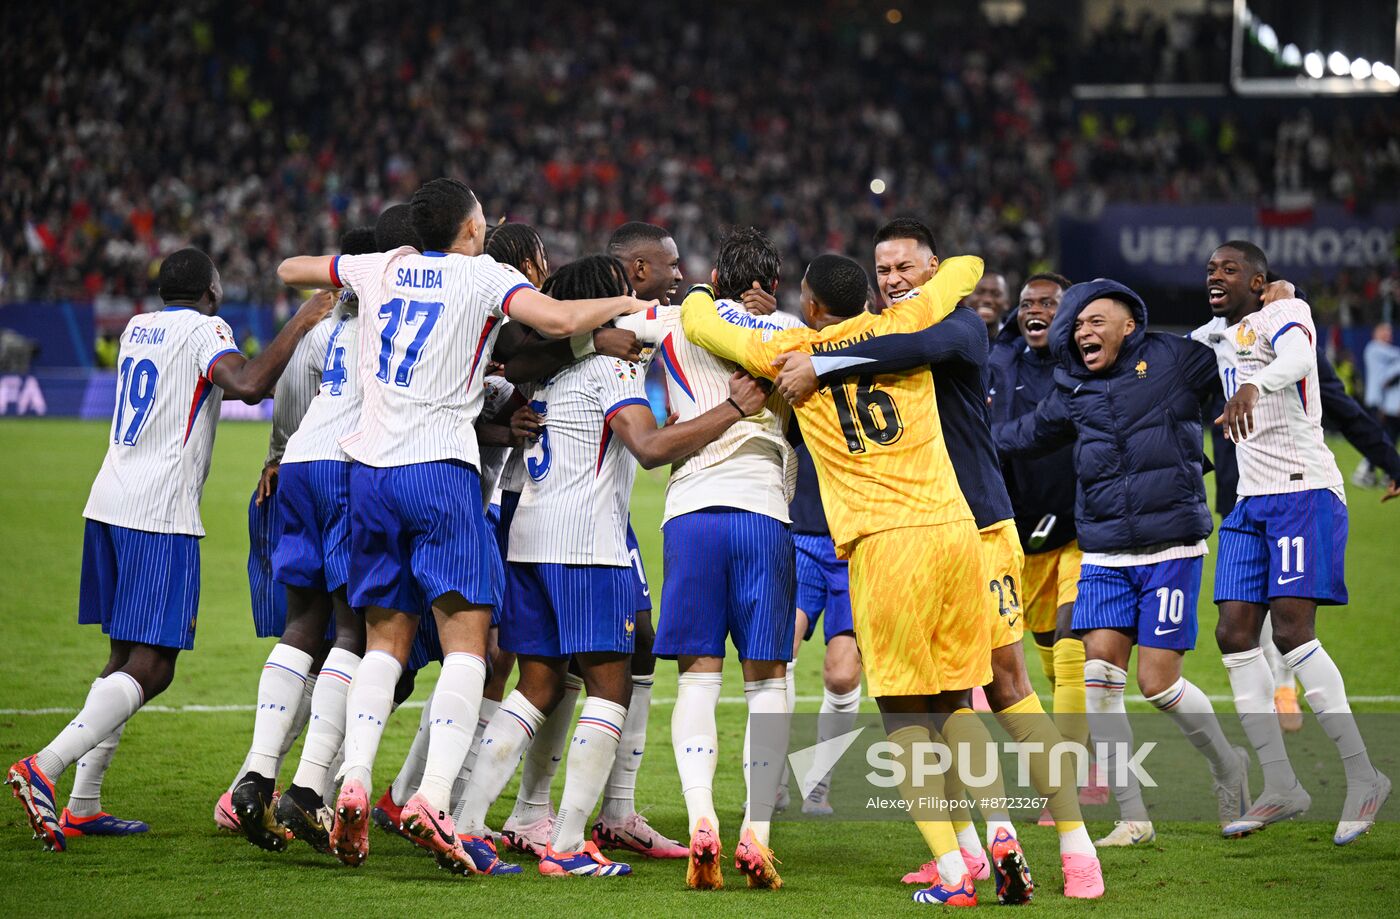
<path id="1" fill-rule="evenodd" d="M 88 684 L 106 658 L 95 628 L 78 628 L 74 611 L 83 539 L 83 504 L 102 460 L 106 424 L 59 420 L 3 420 L 4 469 L 0 476 L 0 691 L 6 709 L 77 710 Z M 1333 444 L 1350 471 L 1355 455 Z M 213 472 L 204 490 L 203 594 L 196 650 L 181 657 L 175 682 L 157 702 L 167 706 L 246 705 L 256 698 L 260 664 L 270 644 L 252 635 L 248 614 L 245 509 L 266 448 L 266 427 L 230 423 L 220 429 Z M 661 583 L 664 476 L 638 476 L 633 502 L 637 535 L 655 587 Z M 1354 602 L 1326 611 L 1320 632 L 1341 664 L 1354 696 L 1400 692 L 1396 672 L 1400 644 L 1393 598 L 1400 595 L 1394 563 L 1400 506 L 1378 503 L 1376 492 L 1352 490 L 1348 581 Z M 1212 541 L 1214 542 L 1214 541 Z M 1187 675 L 1208 693 L 1228 693 L 1215 651 L 1215 608 L 1210 602 L 1211 560 L 1200 618 L 1200 650 L 1187 657 Z M 1028 653 L 1037 689 L 1046 686 L 1035 651 Z M 725 696 L 739 696 L 741 678 L 731 667 Z M 430 668 L 414 698 L 435 679 Z M 820 647 L 806 646 L 798 671 L 802 696 L 820 693 Z M 647 759 L 637 799 L 659 829 L 680 836 L 685 806 L 671 755 L 671 703 L 675 668 L 659 661 L 657 702 L 651 714 Z M 1130 692 L 1135 696 L 1135 692 Z M 1145 709 L 1141 699 L 1138 709 Z M 1217 705 L 1222 713 L 1229 705 Z M 1400 705 L 1366 703 L 1357 710 L 1394 710 Z M 799 703 L 812 712 L 815 702 Z M 869 710 L 869 700 L 865 702 Z M 739 751 L 743 706 L 720 706 L 721 759 L 715 799 L 725 821 L 724 842 L 732 855 L 743 783 Z M 1226 714 L 1226 717 L 1229 717 Z M 10 763 L 42 747 L 66 723 L 64 714 L 0 714 L 0 756 Z M 1233 720 L 1231 717 L 1231 720 Z M 389 782 L 417 723 L 405 710 L 385 733 L 375 776 L 375 796 Z M 1226 726 L 1232 734 L 1238 726 Z M 683 862 L 634 862 L 636 874 L 616 880 L 549 880 L 526 864 L 522 877 L 454 878 L 409 843 L 371 829 L 371 857 L 350 870 L 294 843 L 284 855 L 253 849 L 214 829 L 214 799 L 232 779 L 252 731 L 252 712 L 140 713 L 129 724 L 104 789 L 104 806 L 151 824 L 146 836 L 76 839 L 66 855 L 43 852 L 29 839 L 17 801 L 0 804 L 0 915 L 62 909 L 70 915 L 368 915 L 398 911 L 483 915 L 669 915 L 704 909 L 715 916 L 819 915 L 833 906 L 867 916 L 914 915 L 923 908 L 899 884 L 903 871 L 923 862 L 925 850 L 913 825 L 777 824 L 774 841 L 787 887 L 778 892 L 743 890 L 727 870 L 729 888 L 710 894 L 685 890 Z M 804 741 L 811 742 L 811 741 Z M 293 751 L 290 762 L 295 762 Z M 3 765 L 0 763 L 0 765 Z M 1396 763 L 1378 763 L 1400 778 Z M 284 768 L 283 779 L 291 766 Z M 564 771 L 556 780 L 556 800 Z M 66 800 L 71 772 L 62 780 Z M 1257 766 L 1253 786 L 1257 789 Z M 1189 794 L 1210 794 L 1205 787 Z M 500 827 L 514 800 L 514 783 L 490 815 Z M 1386 808 L 1394 811 L 1396 803 Z M 1159 824 L 1158 842 L 1138 849 L 1102 852 L 1107 895 L 1093 904 L 1060 895 L 1054 831 L 1019 828 L 1039 891 L 1030 909 L 1096 916 L 1177 915 L 1393 915 L 1400 828 L 1380 824 L 1365 839 L 1331 845 L 1334 814 L 1319 822 L 1291 824 L 1235 842 L 1219 839 L 1207 824 Z M 1105 824 L 1091 824 L 1099 835 Z M 1389 880 L 1387 880 L 1389 878 Z M 995 905 L 991 883 L 979 884 L 983 904 Z"/>

